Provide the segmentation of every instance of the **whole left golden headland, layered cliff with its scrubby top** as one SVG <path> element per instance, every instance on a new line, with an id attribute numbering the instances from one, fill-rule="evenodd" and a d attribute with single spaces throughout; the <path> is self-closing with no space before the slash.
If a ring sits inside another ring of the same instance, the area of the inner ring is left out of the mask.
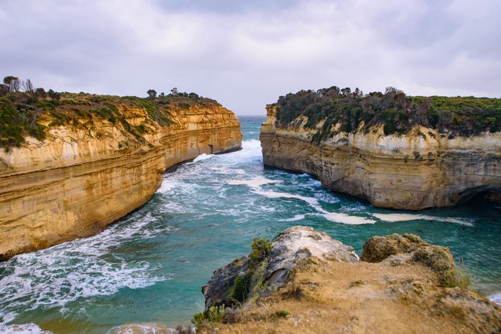
<path id="1" fill-rule="evenodd" d="M 2 115 L 12 117 L 0 122 L 26 124 L 0 133 L 10 136 L 0 151 L 0 259 L 98 233 L 145 204 L 170 167 L 241 147 L 232 111 L 183 94 L 4 94 Z"/>

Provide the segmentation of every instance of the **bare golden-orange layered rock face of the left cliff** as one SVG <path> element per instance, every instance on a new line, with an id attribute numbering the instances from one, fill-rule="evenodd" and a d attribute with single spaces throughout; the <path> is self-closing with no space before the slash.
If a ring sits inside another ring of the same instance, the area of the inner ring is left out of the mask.
<path id="1" fill-rule="evenodd" d="M 146 203 L 169 167 L 242 142 L 235 114 L 219 105 L 172 107 L 164 127 L 143 108 L 117 108 L 145 132 L 93 118 L 91 127 L 50 127 L 43 142 L 0 151 L 0 259 L 95 234 Z"/>

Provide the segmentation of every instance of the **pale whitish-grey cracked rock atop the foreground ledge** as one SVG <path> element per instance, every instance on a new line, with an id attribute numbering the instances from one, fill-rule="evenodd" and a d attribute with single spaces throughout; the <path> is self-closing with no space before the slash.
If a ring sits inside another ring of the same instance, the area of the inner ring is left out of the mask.
<path id="1" fill-rule="evenodd" d="M 306 226 L 293 226 L 283 230 L 272 241 L 271 261 L 264 272 L 268 285 L 281 286 L 289 271 L 298 261 L 307 257 L 337 259 L 357 262 L 358 255 L 352 246 L 332 239 L 325 232 L 318 232 Z"/>

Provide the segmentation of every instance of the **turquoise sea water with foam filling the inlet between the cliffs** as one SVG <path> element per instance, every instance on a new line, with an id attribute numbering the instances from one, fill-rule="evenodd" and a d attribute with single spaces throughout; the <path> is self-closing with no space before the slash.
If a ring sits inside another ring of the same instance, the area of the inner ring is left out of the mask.
<path id="1" fill-rule="evenodd" d="M 201 286 L 214 270 L 250 252 L 256 236 L 271 239 L 293 225 L 325 231 L 359 255 L 372 235 L 417 234 L 469 263 L 492 299 L 500 293 L 499 208 L 376 209 L 307 175 L 264 169 L 258 138 L 265 118 L 240 120 L 242 151 L 203 155 L 165 174 L 146 205 L 101 234 L 1 262 L 0 331 L 189 324 L 203 310 Z"/>

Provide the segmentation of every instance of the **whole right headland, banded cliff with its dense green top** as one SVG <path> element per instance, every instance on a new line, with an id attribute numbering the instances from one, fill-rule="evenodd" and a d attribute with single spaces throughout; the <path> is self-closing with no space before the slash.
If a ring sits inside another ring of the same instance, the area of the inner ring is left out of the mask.
<path id="1" fill-rule="evenodd" d="M 501 189 L 500 100 L 331 89 L 266 106 L 259 137 L 265 166 L 398 210 L 454 206 Z"/>

